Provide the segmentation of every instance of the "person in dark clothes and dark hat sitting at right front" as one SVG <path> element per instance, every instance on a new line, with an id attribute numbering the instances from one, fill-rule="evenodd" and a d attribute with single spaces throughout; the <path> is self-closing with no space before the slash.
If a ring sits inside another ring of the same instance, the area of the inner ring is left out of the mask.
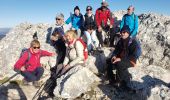
<path id="1" fill-rule="evenodd" d="M 107 61 L 107 75 L 114 86 L 127 86 L 131 80 L 128 68 L 135 67 L 137 55 L 137 41 L 130 38 L 130 28 L 126 25 L 121 30 L 121 39 L 117 43 L 111 59 Z M 130 43 L 130 44 L 129 44 Z M 116 70 L 116 76 L 112 70 Z"/>

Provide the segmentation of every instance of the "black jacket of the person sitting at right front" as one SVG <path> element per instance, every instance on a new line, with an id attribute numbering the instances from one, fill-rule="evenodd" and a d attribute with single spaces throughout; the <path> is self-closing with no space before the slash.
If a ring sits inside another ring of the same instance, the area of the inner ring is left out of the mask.
<path id="1" fill-rule="evenodd" d="M 115 50 L 112 54 L 113 56 L 116 56 L 117 58 L 121 59 L 128 59 L 132 63 L 133 66 L 135 66 L 137 58 L 137 41 L 133 39 L 131 43 L 129 44 L 130 38 L 123 40 L 120 39 L 117 43 Z"/>

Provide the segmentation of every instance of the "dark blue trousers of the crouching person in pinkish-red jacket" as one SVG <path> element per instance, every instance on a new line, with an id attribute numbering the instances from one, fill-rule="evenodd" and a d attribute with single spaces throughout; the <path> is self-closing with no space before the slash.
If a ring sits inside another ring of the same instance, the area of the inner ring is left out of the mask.
<path id="1" fill-rule="evenodd" d="M 33 72 L 21 72 L 21 75 L 25 78 L 28 82 L 38 81 L 42 77 L 44 73 L 43 67 L 37 67 Z"/>

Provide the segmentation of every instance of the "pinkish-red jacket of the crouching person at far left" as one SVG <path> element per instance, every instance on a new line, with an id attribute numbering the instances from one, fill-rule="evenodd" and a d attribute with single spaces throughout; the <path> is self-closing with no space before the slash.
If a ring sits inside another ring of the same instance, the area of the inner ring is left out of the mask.
<path id="1" fill-rule="evenodd" d="M 27 66 L 26 71 L 34 71 L 37 67 L 41 67 L 41 63 L 40 63 L 40 57 L 42 56 L 52 56 L 52 53 L 49 53 L 47 51 L 41 50 L 38 53 L 33 53 L 30 51 L 31 53 L 31 57 L 29 59 L 28 62 L 26 62 L 26 60 L 28 60 L 28 52 L 24 52 L 24 54 L 22 55 L 22 57 L 15 63 L 14 68 L 17 70 L 20 70 L 22 66 Z"/>

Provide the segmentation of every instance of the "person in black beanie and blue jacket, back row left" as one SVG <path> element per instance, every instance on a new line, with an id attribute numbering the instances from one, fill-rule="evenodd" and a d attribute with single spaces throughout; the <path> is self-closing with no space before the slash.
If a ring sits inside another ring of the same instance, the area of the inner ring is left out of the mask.
<path id="1" fill-rule="evenodd" d="M 70 17 L 66 20 L 66 24 L 72 24 L 72 30 L 77 30 L 77 36 L 81 37 L 81 32 L 83 30 L 83 15 L 80 13 L 78 6 L 74 8 L 74 14 L 71 14 Z"/>

